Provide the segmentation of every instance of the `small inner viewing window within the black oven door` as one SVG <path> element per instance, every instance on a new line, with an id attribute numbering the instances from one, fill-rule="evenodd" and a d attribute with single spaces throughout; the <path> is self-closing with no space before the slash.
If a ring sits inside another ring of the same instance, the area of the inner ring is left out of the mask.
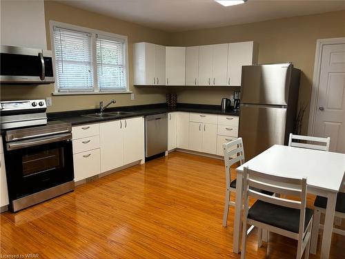
<path id="1" fill-rule="evenodd" d="M 63 167 L 63 147 L 23 154 L 21 163 L 24 177 L 60 169 Z"/>

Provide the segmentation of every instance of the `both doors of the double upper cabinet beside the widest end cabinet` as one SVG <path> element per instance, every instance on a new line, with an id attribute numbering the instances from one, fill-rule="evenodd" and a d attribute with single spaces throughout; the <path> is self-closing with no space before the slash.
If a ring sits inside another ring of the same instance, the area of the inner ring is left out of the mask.
<path id="1" fill-rule="evenodd" d="M 199 47 L 199 85 L 227 85 L 228 44 Z"/>

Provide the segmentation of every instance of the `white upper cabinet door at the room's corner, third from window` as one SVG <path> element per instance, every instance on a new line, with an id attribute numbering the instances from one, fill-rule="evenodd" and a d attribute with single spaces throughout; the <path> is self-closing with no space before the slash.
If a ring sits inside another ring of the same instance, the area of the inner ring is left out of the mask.
<path id="1" fill-rule="evenodd" d="M 186 47 L 166 47 L 166 85 L 185 85 Z"/>

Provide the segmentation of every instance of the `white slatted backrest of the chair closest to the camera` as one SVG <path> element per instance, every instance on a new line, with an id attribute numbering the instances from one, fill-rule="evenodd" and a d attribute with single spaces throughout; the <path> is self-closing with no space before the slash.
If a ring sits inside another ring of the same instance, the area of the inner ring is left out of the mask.
<path id="1" fill-rule="evenodd" d="M 253 187 L 270 191 L 276 194 L 283 194 L 288 198 L 279 198 L 255 191 Z M 291 199 L 293 197 L 299 200 Z M 263 200 L 266 203 L 273 203 L 293 209 L 300 209 L 299 213 L 299 234 L 304 233 L 304 216 L 306 213 L 306 177 L 289 178 L 284 176 L 275 176 L 250 170 L 244 167 L 244 211 L 248 215 L 249 197 Z"/>

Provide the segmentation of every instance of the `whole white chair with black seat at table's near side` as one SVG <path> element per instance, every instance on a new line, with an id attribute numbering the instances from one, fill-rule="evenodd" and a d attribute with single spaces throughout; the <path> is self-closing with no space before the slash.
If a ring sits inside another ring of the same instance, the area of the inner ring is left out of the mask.
<path id="1" fill-rule="evenodd" d="M 279 198 L 259 193 L 253 188 L 298 197 L 299 200 Z M 248 208 L 249 197 L 257 201 Z M 255 172 L 244 167 L 244 220 L 241 258 L 246 257 L 246 227 L 255 225 L 258 231 L 258 247 L 262 245 L 262 229 L 293 238 L 298 241 L 297 259 L 309 257 L 313 210 L 306 208 L 306 178 L 296 179 Z"/>

